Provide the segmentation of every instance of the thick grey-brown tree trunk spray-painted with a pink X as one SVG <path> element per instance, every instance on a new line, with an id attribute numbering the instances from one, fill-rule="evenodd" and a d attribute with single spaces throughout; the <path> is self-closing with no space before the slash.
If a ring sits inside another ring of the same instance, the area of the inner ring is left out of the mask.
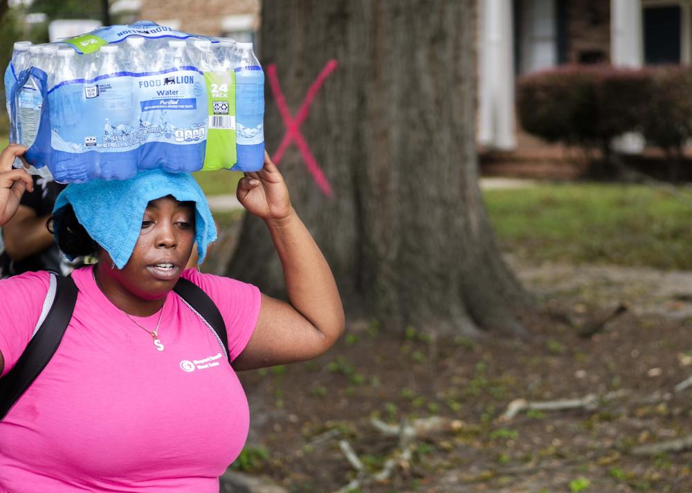
<path id="1" fill-rule="evenodd" d="M 523 332 L 527 296 L 504 264 L 478 188 L 476 0 L 264 0 L 260 60 L 291 112 L 328 60 L 338 68 L 301 127 L 334 190 L 295 144 L 280 162 L 347 314 L 385 327 Z M 284 134 L 266 84 L 266 146 Z M 246 217 L 228 272 L 282 293 L 264 224 Z"/>

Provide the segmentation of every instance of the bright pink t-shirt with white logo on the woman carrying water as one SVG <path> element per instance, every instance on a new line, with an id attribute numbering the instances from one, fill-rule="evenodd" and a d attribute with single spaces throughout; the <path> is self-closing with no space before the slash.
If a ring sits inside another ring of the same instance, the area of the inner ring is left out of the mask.
<path id="1" fill-rule="evenodd" d="M 73 273 L 80 292 L 60 348 L 0 422 L 0 492 L 217 493 L 249 425 L 217 339 L 171 292 L 158 330 L 165 350 L 156 350 L 91 270 Z M 259 290 L 194 270 L 183 277 L 219 307 L 237 357 L 257 323 Z M 3 375 L 26 348 L 47 291 L 46 272 L 0 281 Z M 158 314 L 134 318 L 153 330 Z"/>

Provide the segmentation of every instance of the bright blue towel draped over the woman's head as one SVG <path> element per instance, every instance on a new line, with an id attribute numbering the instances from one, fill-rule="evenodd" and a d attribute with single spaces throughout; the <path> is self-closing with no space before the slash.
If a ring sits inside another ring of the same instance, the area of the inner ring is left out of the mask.
<path id="1" fill-rule="evenodd" d="M 57 196 L 53 213 L 71 204 L 89 236 L 122 269 L 134 250 L 147 204 L 166 195 L 181 202 L 194 202 L 194 240 L 199 263 L 203 262 L 207 246 L 216 240 L 217 231 L 204 192 L 191 174 L 150 170 L 138 172 L 129 180 L 70 183 Z"/>

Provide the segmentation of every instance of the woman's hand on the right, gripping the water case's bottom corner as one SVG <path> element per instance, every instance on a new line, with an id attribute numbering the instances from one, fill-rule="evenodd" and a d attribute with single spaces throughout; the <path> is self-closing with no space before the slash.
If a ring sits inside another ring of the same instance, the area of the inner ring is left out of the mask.
<path id="1" fill-rule="evenodd" d="M 284 219 L 295 212 L 284 177 L 266 151 L 264 167 L 260 171 L 246 172 L 238 182 L 235 194 L 248 212 L 265 221 Z"/>

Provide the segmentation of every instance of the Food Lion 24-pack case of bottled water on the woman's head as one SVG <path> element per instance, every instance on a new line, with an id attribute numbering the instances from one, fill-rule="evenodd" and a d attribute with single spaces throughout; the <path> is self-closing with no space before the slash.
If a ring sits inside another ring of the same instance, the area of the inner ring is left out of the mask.
<path id="1" fill-rule="evenodd" d="M 56 181 L 264 163 L 264 74 L 251 43 L 151 21 L 18 42 L 5 88 L 10 141 Z"/>

